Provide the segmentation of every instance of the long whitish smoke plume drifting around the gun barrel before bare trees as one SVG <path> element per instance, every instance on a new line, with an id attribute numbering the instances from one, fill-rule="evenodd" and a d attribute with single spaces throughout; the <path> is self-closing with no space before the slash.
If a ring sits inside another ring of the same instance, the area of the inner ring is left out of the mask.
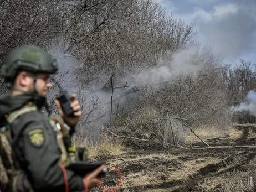
<path id="1" fill-rule="evenodd" d="M 158 60 L 155 67 L 146 68 L 137 74 L 132 74 L 126 78 L 119 81 L 116 79 L 116 86 L 124 86 L 122 82 L 127 81 L 128 85 L 136 85 L 140 89 L 144 85 L 161 85 L 163 82 L 171 82 L 173 78 L 177 76 L 195 76 L 200 70 L 202 70 L 204 64 L 209 55 L 205 55 L 206 51 L 204 49 L 199 49 L 194 46 L 190 49 L 184 49 L 173 52 L 168 52 L 165 56 L 162 56 Z M 50 52 L 59 60 L 59 74 L 55 77 L 63 89 L 68 90 L 68 92 L 75 92 L 79 96 L 79 101 L 83 107 L 83 116 L 80 121 L 79 132 L 83 133 L 86 131 L 88 134 L 93 136 L 99 136 L 101 127 L 103 124 L 108 124 L 110 122 L 110 107 L 111 103 L 111 90 L 104 91 L 99 89 L 100 85 L 84 85 L 79 84 L 77 81 L 77 75 L 75 74 L 75 68 L 79 65 L 79 61 L 72 58 L 68 53 L 64 53 L 62 44 L 58 46 L 53 46 Z M 104 86 L 104 85 L 102 85 Z M 99 89 L 99 90 L 95 90 Z M 121 93 L 121 91 L 126 91 L 130 89 L 115 89 L 114 97 Z M 53 90 L 56 94 L 56 90 Z M 54 97 L 54 94 L 52 95 Z M 117 106 L 126 104 L 126 98 L 117 100 L 112 103 L 112 116 L 115 115 L 117 111 Z"/>

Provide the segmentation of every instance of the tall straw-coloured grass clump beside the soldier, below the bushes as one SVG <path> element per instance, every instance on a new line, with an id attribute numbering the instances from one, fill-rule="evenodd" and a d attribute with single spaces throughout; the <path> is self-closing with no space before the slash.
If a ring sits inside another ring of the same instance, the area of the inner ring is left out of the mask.
<path id="1" fill-rule="evenodd" d="M 91 142 L 84 136 L 75 136 L 73 145 L 86 147 L 89 151 L 89 158 L 95 158 L 98 155 L 121 155 L 129 149 L 124 147 L 120 140 L 110 136 L 102 136 L 98 142 Z"/>

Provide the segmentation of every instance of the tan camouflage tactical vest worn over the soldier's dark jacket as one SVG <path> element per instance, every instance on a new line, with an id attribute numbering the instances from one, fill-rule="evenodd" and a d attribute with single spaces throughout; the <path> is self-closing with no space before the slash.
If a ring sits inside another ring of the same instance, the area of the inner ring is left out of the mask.
<path id="1" fill-rule="evenodd" d="M 0 192 L 18 191 L 17 179 L 21 176 L 21 174 L 24 175 L 22 170 L 19 170 L 14 163 L 15 157 L 11 144 L 11 123 L 24 113 L 37 110 L 37 106 L 35 106 L 34 103 L 29 102 L 21 109 L 6 115 L 8 124 L 0 128 Z M 60 163 L 66 167 L 75 160 L 85 160 L 87 157 L 85 153 L 86 150 L 77 150 L 71 145 L 71 139 L 68 130 L 69 127 L 63 122 L 62 118 L 50 117 L 48 120 L 56 132 L 57 142 L 62 153 L 60 156 Z M 81 157 L 83 157 L 83 159 L 81 159 Z M 29 183 L 27 183 L 27 189 L 24 189 L 24 191 L 33 191 Z"/>

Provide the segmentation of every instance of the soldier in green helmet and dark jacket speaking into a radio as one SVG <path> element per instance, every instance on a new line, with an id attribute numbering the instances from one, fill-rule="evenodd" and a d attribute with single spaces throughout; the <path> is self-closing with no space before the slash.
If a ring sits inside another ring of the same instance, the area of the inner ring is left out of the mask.
<path id="1" fill-rule="evenodd" d="M 86 177 L 65 168 L 74 158 L 64 141 L 69 135 L 64 136 L 59 127 L 68 126 L 74 132 L 81 116 L 76 96 L 71 96 L 72 117 L 55 100 L 65 126 L 58 127 L 56 118 L 50 120 L 40 112 L 43 106 L 48 108 L 50 74 L 57 71 L 52 55 L 27 45 L 12 50 L 2 65 L 1 75 L 11 83 L 12 91 L 0 98 L 0 122 L 4 124 L 0 129 L 0 191 L 84 191 L 98 183 L 96 176 L 104 166 Z"/>

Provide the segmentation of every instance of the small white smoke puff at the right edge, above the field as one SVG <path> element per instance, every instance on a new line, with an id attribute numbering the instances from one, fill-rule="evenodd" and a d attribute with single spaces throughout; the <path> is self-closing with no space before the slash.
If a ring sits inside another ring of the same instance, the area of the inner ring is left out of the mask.
<path id="1" fill-rule="evenodd" d="M 231 107 L 233 112 L 248 111 L 250 115 L 256 116 L 256 92 L 251 90 L 248 92 L 245 101 L 239 106 Z"/>

